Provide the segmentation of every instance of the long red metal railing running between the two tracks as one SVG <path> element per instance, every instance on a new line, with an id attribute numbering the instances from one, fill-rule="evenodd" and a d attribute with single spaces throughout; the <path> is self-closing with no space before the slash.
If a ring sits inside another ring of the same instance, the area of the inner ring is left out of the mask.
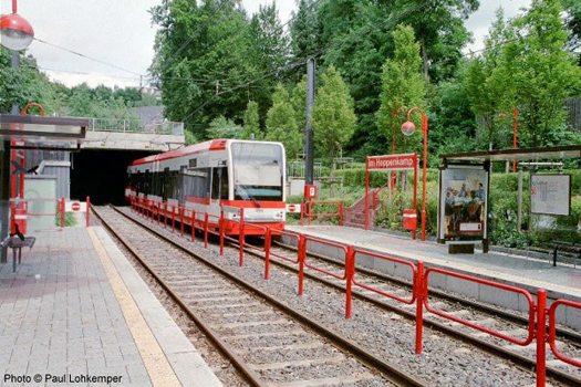
<path id="1" fill-rule="evenodd" d="M 166 207 L 166 215 L 167 215 L 167 203 L 164 203 L 164 206 Z M 146 205 L 145 205 L 145 200 L 143 200 L 142 198 L 133 199 L 132 200 L 132 208 L 133 208 L 134 211 L 138 212 L 143 217 L 146 217 L 146 213 L 144 213 Z M 157 209 L 158 209 L 157 210 L 157 215 L 159 216 L 159 212 L 160 212 L 160 205 L 159 203 L 157 206 Z M 460 273 L 456 273 L 456 272 L 448 271 L 448 270 L 443 270 L 443 269 L 437 269 L 437 268 L 428 268 L 427 270 L 424 271 L 424 263 L 421 262 L 421 261 L 417 262 L 417 264 L 414 264 L 413 262 L 409 262 L 409 261 L 406 261 L 406 260 L 402 260 L 402 259 L 397 259 L 397 258 L 393 258 L 393 257 L 388 257 L 388 255 L 384 255 L 384 254 L 380 254 L 380 253 L 374 253 L 374 252 L 365 251 L 365 250 L 361 250 L 361 249 L 354 249 L 353 245 L 343 245 L 343 244 L 335 243 L 335 242 L 332 242 L 332 241 L 308 237 L 308 236 L 304 236 L 302 233 L 294 233 L 294 232 L 287 232 L 287 231 L 277 231 L 277 233 L 284 234 L 284 236 L 288 236 L 288 237 L 297 239 L 298 258 L 297 258 L 297 260 L 292 260 L 292 259 L 290 259 L 288 257 L 284 257 L 284 255 L 278 254 L 278 253 L 273 253 L 273 252 L 270 251 L 271 250 L 271 233 L 272 233 L 272 231 L 270 230 L 270 228 L 264 227 L 264 226 L 245 222 L 245 220 L 243 220 L 243 208 L 232 208 L 232 209 L 230 209 L 230 211 L 239 211 L 239 213 L 240 213 L 239 220 L 225 218 L 225 216 L 224 216 L 225 212 L 224 212 L 224 208 L 222 208 L 220 217 L 217 217 L 217 216 L 214 216 L 214 215 L 204 213 L 204 221 L 201 221 L 200 219 L 197 219 L 198 216 L 200 215 L 200 212 L 196 213 L 195 210 L 187 210 L 184 207 L 180 207 L 179 208 L 179 217 L 180 217 L 181 224 L 183 224 L 181 229 L 184 227 L 184 223 L 187 220 L 187 216 L 186 216 L 187 211 L 190 212 L 190 224 L 191 224 L 191 236 L 193 236 L 191 240 L 193 241 L 195 240 L 195 231 L 196 231 L 196 229 L 198 229 L 198 230 L 201 229 L 201 230 L 204 230 L 204 234 L 205 234 L 204 236 L 204 242 L 205 242 L 205 247 L 206 248 L 208 247 L 207 243 L 208 243 L 208 234 L 209 233 L 217 234 L 217 236 L 220 237 L 220 254 L 224 253 L 224 240 L 230 240 L 230 241 L 232 241 L 235 243 L 238 243 L 239 244 L 239 249 L 240 249 L 240 265 L 243 265 L 243 248 L 245 247 L 248 247 L 250 249 L 263 252 L 264 253 L 264 279 L 267 279 L 267 280 L 269 279 L 269 259 L 270 259 L 270 257 L 277 257 L 277 258 L 280 258 L 282 260 L 292 262 L 292 263 L 299 263 L 299 292 L 298 292 L 299 295 L 303 294 L 304 268 L 312 269 L 312 270 L 318 271 L 320 273 L 323 273 L 325 275 L 333 276 L 333 278 L 335 278 L 338 280 L 346 280 L 346 307 L 345 307 L 345 317 L 346 318 L 351 317 L 351 308 L 352 308 L 351 302 L 352 302 L 352 286 L 353 285 L 360 286 L 360 287 L 365 289 L 367 291 L 374 292 L 376 294 L 383 295 L 383 296 L 388 297 L 391 300 L 395 300 L 397 302 L 402 302 L 402 303 L 405 303 L 405 304 L 408 304 L 408 305 L 415 303 L 416 304 L 416 347 L 415 347 L 415 352 L 418 355 L 422 354 L 422 334 L 423 334 L 423 318 L 424 318 L 423 317 L 423 313 L 424 313 L 424 307 L 425 307 L 426 311 L 429 312 L 429 313 L 433 313 L 433 314 L 438 315 L 440 317 L 454 321 L 454 322 L 456 322 L 458 324 L 471 327 L 474 330 L 484 332 L 484 333 L 489 334 L 489 335 L 491 335 L 494 337 L 498 337 L 498 338 L 505 339 L 505 341 L 510 342 L 510 343 L 516 344 L 516 345 L 527 346 L 530 343 L 532 343 L 533 341 L 536 341 L 536 344 L 537 344 L 537 386 L 544 386 L 544 384 L 546 384 L 546 360 L 547 359 L 546 359 L 544 343 L 547 343 L 547 342 L 549 343 L 552 353 L 554 354 L 554 356 L 558 359 L 560 359 L 560 360 L 562 360 L 562 362 L 564 362 L 567 364 L 570 364 L 572 366 L 581 367 L 581 362 L 579 362 L 578 359 L 573 359 L 573 358 L 567 357 L 566 355 L 561 354 L 558 351 L 557 345 L 556 345 L 556 331 L 557 331 L 557 328 L 556 328 L 556 324 L 557 324 L 556 311 L 557 311 L 558 306 L 563 305 L 563 306 L 574 307 L 574 308 L 581 310 L 581 303 L 572 302 L 572 301 L 569 301 L 569 300 L 557 300 L 557 301 L 554 301 L 552 303 L 550 310 L 547 311 L 547 292 L 544 290 L 542 290 L 542 289 L 539 290 L 538 293 L 537 293 L 537 300 L 538 301 L 537 301 L 537 304 L 536 304 L 533 299 L 532 299 L 532 296 L 531 296 L 531 294 L 528 291 L 519 289 L 519 287 L 516 287 L 516 286 L 510 286 L 510 285 L 506 285 L 506 284 L 502 284 L 502 283 L 488 281 L 488 280 L 479 279 L 479 278 L 476 278 L 476 276 L 460 274 Z M 175 211 L 173 211 L 173 213 L 174 213 L 173 221 L 175 221 Z M 214 219 L 214 221 L 210 221 L 210 219 Z M 239 230 L 240 230 L 239 239 L 226 236 L 225 229 L 226 229 L 227 222 L 238 223 Z M 159 221 L 158 221 L 158 223 L 159 223 Z M 263 248 L 259 248 L 259 247 L 256 247 L 256 245 L 251 245 L 251 244 L 245 243 L 245 228 L 257 228 L 257 229 L 262 230 L 264 232 L 264 247 Z M 184 233 L 181 232 L 181 234 L 184 234 Z M 310 247 L 313 243 L 320 243 L 320 244 L 324 244 L 324 245 L 334 247 L 334 248 L 338 248 L 340 251 L 343 251 L 343 253 L 344 253 L 344 272 L 343 273 L 334 273 L 334 272 L 331 272 L 329 270 L 324 270 L 322 268 L 318 268 L 318 266 L 315 266 L 313 264 L 310 264 L 307 261 L 307 248 L 308 248 L 308 244 Z M 398 296 L 396 294 L 391 294 L 388 292 L 384 292 L 384 291 L 382 291 L 380 289 L 373 287 L 371 285 L 367 285 L 367 284 L 364 284 L 364 283 L 357 281 L 357 279 L 355 278 L 357 255 L 360 255 L 360 257 L 361 255 L 369 255 L 369 257 L 373 257 L 375 259 L 391 261 L 391 262 L 394 262 L 395 264 L 403 264 L 403 265 L 409 266 L 411 272 L 412 272 L 412 279 L 413 279 L 413 292 L 412 292 L 411 297 L 403 297 L 403 296 Z M 481 285 L 486 285 L 486 286 L 500 289 L 502 291 L 516 293 L 518 295 L 523 296 L 527 300 L 528 304 L 529 304 L 529 318 L 528 318 L 528 327 L 527 327 L 528 336 L 526 338 L 523 338 L 523 339 L 511 337 L 511 336 L 508 336 L 508 335 L 506 335 L 506 334 L 504 334 L 501 332 L 489 330 L 487 327 L 480 326 L 480 325 L 475 324 L 473 322 L 469 322 L 469 321 L 456 317 L 456 316 L 454 316 L 454 315 L 452 315 L 449 313 L 446 313 L 446 312 L 433 308 L 429 305 L 429 300 L 428 300 L 428 296 L 429 296 L 429 292 L 428 292 L 429 291 L 429 275 L 432 273 L 437 273 L 437 274 L 440 274 L 440 275 L 454 276 L 456 279 L 460 279 L 460 280 L 469 281 L 469 282 L 475 282 L 475 283 L 478 283 L 478 284 L 481 284 Z M 546 335 L 547 313 L 549 315 L 549 337 L 548 338 L 547 338 L 547 335 Z"/>

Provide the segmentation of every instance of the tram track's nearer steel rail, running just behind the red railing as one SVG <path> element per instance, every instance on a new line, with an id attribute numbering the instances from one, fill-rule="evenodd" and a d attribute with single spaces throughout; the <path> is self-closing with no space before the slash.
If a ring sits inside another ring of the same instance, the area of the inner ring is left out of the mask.
<path id="1" fill-rule="evenodd" d="M 255 255 L 255 257 L 258 257 L 258 258 L 263 258 L 262 255 L 256 253 L 255 251 L 252 250 L 247 250 L 248 253 Z M 314 255 L 313 255 L 314 257 Z M 293 268 L 292 265 L 288 264 L 288 263 L 284 263 L 284 262 L 280 262 L 278 260 L 272 260 L 270 259 L 270 263 L 271 264 L 274 264 L 274 265 L 279 265 L 281 268 L 284 268 L 286 270 L 289 270 L 289 271 L 292 271 L 292 272 L 298 272 L 298 269 L 297 268 Z M 357 269 L 359 271 L 359 269 Z M 328 285 L 330 287 L 333 287 L 342 293 L 345 292 L 345 287 L 343 285 L 340 285 L 340 284 L 336 284 L 336 283 L 333 283 L 331 282 L 330 280 L 326 280 L 326 279 L 323 279 L 321 276 L 318 276 L 315 274 L 312 274 L 312 273 L 308 273 L 307 271 L 304 272 L 304 276 L 310 279 L 310 280 L 313 280 L 315 282 L 319 282 L 319 283 L 322 283 L 324 285 Z M 432 291 L 430 291 L 432 293 Z M 373 299 L 366 294 L 363 294 L 363 293 L 360 293 L 360 292 L 353 292 L 352 293 L 353 297 L 356 297 L 356 299 L 360 299 L 360 300 L 363 300 L 363 301 L 366 301 L 382 310 L 385 310 L 385 311 L 388 311 L 388 312 L 394 312 L 394 313 L 397 313 L 400 314 L 401 316 L 407 318 L 407 320 L 411 320 L 411 321 L 415 321 L 416 320 L 416 314 L 414 312 L 409 312 L 409 311 L 406 311 L 402 307 L 397 307 L 397 306 L 394 306 L 394 305 L 391 305 L 384 301 L 380 301 L 380 300 L 376 300 L 376 299 Z M 443 334 L 446 334 L 447 336 L 450 336 L 453 338 L 456 338 L 458 341 L 461 341 L 466 344 L 469 344 L 469 345 L 473 345 L 481 351 L 485 351 L 487 353 L 489 353 L 490 355 L 494 355 L 494 356 L 497 356 L 497 357 L 500 357 L 500 358 L 504 358 L 504 359 L 507 359 L 509 362 L 512 362 L 515 365 L 519 366 L 520 368 L 525 369 L 525 370 L 528 370 L 530 372 L 531 369 L 536 369 L 537 368 L 537 363 L 533 360 L 533 359 L 530 359 L 523 355 L 520 355 L 520 354 L 517 354 L 515 352 L 510 352 L 504 347 L 501 347 L 500 345 L 497 345 L 497 344 L 494 344 L 494 343 L 490 343 L 490 342 L 487 342 L 485 339 L 480 339 L 478 337 L 474 337 L 467 333 L 463 333 L 463 332 L 459 332 L 459 331 L 455 331 L 453 330 L 452 327 L 447 326 L 446 324 L 443 324 L 443 323 L 438 323 L 432 318 L 426 318 L 424 317 L 424 326 L 427 326 L 434 331 L 437 331 L 437 332 L 440 332 Z M 568 386 L 581 386 L 581 377 L 577 377 L 574 375 L 570 375 L 570 374 L 567 374 L 560 369 L 557 369 L 554 367 L 547 367 L 547 376 L 548 377 L 551 377 L 553 378 L 554 380 L 557 381 L 560 381 L 560 383 L 563 383 Z"/>

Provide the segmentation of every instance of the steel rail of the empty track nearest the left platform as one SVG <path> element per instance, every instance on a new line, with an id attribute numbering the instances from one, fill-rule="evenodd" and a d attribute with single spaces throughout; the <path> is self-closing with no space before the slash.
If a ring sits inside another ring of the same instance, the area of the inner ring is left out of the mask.
<path id="1" fill-rule="evenodd" d="M 113 208 L 113 207 L 112 207 Z M 216 346 L 222 352 L 226 357 L 235 365 L 235 367 L 248 379 L 253 386 L 262 387 L 268 386 L 258 374 L 256 374 L 246 362 L 238 356 L 234 348 L 224 342 L 216 332 L 209 326 L 209 324 L 196 312 L 189 308 L 184 301 L 172 290 L 172 287 L 159 276 L 157 273 L 145 262 L 141 254 L 131 245 L 131 243 L 123 238 L 115 229 L 103 218 L 100 213 L 100 210 L 96 210 L 94 206 L 91 205 L 93 213 L 101 220 L 101 222 L 107 228 L 107 230 L 115 236 L 115 238 L 134 255 L 134 258 L 143 265 L 143 268 L 155 279 L 155 281 L 166 291 L 169 297 L 177 304 L 179 307 L 193 320 L 196 325 L 209 337 Z M 142 224 L 139 224 L 142 226 Z"/>

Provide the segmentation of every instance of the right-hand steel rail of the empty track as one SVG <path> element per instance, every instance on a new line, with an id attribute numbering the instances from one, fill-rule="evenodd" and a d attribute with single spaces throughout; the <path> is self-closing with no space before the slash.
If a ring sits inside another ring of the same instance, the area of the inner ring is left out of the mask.
<path id="1" fill-rule="evenodd" d="M 217 264 L 212 263 L 211 261 L 207 260 L 206 258 L 199 255 L 198 253 L 191 251 L 189 248 L 186 248 L 181 245 L 180 243 L 177 243 L 173 241 L 169 237 L 164 236 L 163 233 L 158 232 L 157 230 L 153 229 L 149 224 L 144 224 L 139 222 L 138 220 L 134 219 L 133 217 L 124 213 L 123 211 L 118 210 L 117 208 L 110 206 L 112 209 L 114 209 L 117 213 L 122 215 L 126 219 L 131 220 L 132 222 L 138 224 L 139 227 L 148 230 L 149 232 L 154 233 L 159 239 L 166 241 L 167 243 L 172 244 L 174 248 L 177 248 L 178 250 L 185 252 L 186 254 L 191 255 L 194 259 L 203 262 L 207 266 L 211 268 L 212 270 L 217 271 L 228 280 L 235 282 L 236 284 L 240 285 L 241 287 L 246 289 L 247 291 L 253 293 L 256 296 L 261 297 L 270 305 L 279 308 L 280 311 L 284 312 L 286 314 L 292 316 L 293 318 L 298 320 L 312 331 L 321 334 L 322 336 L 330 339 L 335 346 L 343 349 L 346 353 L 350 353 L 351 355 L 355 356 L 361 363 L 367 365 L 369 367 L 375 368 L 381 372 L 381 374 L 388 379 L 391 383 L 397 385 L 397 386 L 427 386 L 428 384 L 424 380 L 421 380 L 418 378 L 413 377 L 412 375 L 398 369 L 396 366 L 383 360 L 382 358 L 375 356 L 371 352 L 366 351 L 365 348 L 361 347 L 353 341 L 332 332 L 331 330 L 326 328 L 324 324 L 321 322 L 318 322 L 311 317 L 308 317 L 307 315 L 293 310 L 291 306 L 287 305 L 286 303 L 272 297 L 271 295 L 256 289 L 251 283 L 241 280 L 234 274 L 229 273 L 225 269 L 218 266 Z M 114 231 L 113 231 L 114 232 Z M 115 233 L 115 232 L 114 232 Z M 133 253 L 133 252 L 132 252 Z"/>

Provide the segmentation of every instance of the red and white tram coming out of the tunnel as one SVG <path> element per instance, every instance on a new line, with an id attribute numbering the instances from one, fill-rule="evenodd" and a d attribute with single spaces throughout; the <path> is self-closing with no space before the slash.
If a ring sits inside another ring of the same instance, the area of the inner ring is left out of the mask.
<path id="1" fill-rule="evenodd" d="M 128 200 L 147 206 L 157 216 L 167 207 L 184 208 L 203 226 L 218 227 L 224 209 L 225 233 L 237 234 L 243 208 L 245 234 L 262 234 L 264 227 L 283 230 L 286 220 L 286 159 L 280 143 L 215 139 L 139 158 L 127 168 Z M 167 206 L 167 207 L 166 207 Z"/>

